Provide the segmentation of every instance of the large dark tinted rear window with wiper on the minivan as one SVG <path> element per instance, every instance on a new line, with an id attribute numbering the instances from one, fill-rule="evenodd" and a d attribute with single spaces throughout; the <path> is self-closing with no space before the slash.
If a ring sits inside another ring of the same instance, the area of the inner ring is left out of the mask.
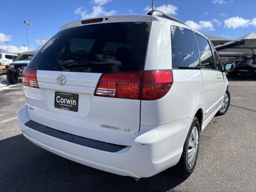
<path id="1" fill-rule="evenodd" d="M 151 22 L 119 22 L 58 32 L 32 58 L 37 70 L 124 72 L 144 70 Z"/>

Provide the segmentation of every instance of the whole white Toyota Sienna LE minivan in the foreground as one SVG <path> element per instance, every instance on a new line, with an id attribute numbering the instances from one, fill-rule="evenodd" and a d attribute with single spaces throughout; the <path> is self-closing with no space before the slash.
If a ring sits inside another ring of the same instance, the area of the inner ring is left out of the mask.
<path id="1" fill-rule="evenodd" d="M 200 32 L 157 10 L 68 23 L 22 76 L 23 135 L 69 160 L 133 178 L 195 166 L 200 132 L 228 110 L 225 71 Z"/>

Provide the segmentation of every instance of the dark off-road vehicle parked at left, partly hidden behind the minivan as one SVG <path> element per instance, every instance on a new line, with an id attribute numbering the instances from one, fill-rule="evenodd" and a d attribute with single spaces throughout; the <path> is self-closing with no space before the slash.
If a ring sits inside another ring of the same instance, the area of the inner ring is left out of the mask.
<path id="1" fill-rule="evenodd" d="M 14 62 L 7 67 L 7 80 L 11 84 L 15 84 L 18 78 L 22 76 L 24 68 L 36 54 L 37 50 L 19 53 Z"/>

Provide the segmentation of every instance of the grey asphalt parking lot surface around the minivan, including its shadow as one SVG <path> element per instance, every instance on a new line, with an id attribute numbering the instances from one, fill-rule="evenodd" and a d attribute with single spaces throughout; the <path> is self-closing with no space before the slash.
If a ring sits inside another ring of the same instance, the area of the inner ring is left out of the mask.
<path id="1" fill-rule="evenodd" d="M 256 81 L 230 81 L 231 104 L 201 134 L 194 173 L 186 180 L 171 168 L 152 178 L 96 170 L 32 144 L 18 126 L 25 103 L 22 84 L 0 88 L 0 191 L 255 191 Z"/>

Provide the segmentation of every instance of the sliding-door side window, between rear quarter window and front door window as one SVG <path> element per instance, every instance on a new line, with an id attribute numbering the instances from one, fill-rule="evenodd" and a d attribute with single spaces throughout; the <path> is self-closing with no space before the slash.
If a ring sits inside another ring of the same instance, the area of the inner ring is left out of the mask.
<path id="1" fill-rule="evenodd" d="M 202 68 L 216 69 L 208 41 L 198 34 L 196 34 L 196 40 L 197 40 L 198 48 L 200 52 Z"/>

